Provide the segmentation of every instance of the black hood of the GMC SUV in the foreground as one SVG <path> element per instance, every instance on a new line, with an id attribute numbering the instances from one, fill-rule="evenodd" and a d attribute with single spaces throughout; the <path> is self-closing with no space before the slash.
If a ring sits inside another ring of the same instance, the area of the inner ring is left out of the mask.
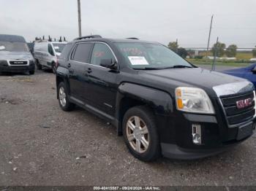
<path id="1" fill-rule="evenodd" d="M 159 84 L 169 84 L 176 87 L 186 85 L 201 87 L 204 90 L 213 90 L 213 87 L 218 85 L 247 81 L 239 77 L 200 68 L 148 70 L 141 71 L 140 76 L 160 82 Z"/>

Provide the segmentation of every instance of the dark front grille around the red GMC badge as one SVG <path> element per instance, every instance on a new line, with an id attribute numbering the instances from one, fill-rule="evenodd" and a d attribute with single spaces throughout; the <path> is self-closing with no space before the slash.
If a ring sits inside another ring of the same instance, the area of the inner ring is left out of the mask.
<path id="1" fill-rule="evenodd" d="M 247 98 L 252 99 L 252 104 L 238 109 L 236 104 L 237 101 L 244 101 Z M 222 101 L 229 125 L 237 125 L 243 122 L 247 122 L 248 120 L 251 120 L 255 115 L 255 101 L 253 92 L 222 96 L 220 100 Z"/>

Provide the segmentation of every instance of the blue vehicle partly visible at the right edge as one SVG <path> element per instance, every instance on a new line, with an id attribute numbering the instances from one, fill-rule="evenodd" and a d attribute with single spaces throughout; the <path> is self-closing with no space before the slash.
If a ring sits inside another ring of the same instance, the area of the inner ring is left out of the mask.
<path id="1" fill-rule="evenodd" d="M 222 73 L 248 79 L 256 87 L 256 63 L 253 63 L 252 65 L 244 68 L 225 70 L 222 71 Z"/>

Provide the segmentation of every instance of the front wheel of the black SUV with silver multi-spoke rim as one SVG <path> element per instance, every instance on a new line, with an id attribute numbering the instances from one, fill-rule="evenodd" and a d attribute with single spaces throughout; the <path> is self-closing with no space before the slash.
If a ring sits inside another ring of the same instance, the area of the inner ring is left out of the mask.
<path id="1" fill-rule="evenodd" d="M 135 106 L 124 114 L 123 135 L 129 152 L 143 161 L 160 156 L 160 144 L 154 114 L 146 106 Z"/>

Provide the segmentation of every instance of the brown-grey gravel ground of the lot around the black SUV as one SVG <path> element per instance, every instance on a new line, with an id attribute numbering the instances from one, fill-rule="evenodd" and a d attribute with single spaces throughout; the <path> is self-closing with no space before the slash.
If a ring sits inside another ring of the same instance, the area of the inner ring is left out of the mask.
<path id="1" fill-rule="evenodd" d="M 256 136 L 214 157 L 143 163 L 113 126 L 63 112 L 55 76 L 0 75 L 1 185 L 256 185 Z"/>

